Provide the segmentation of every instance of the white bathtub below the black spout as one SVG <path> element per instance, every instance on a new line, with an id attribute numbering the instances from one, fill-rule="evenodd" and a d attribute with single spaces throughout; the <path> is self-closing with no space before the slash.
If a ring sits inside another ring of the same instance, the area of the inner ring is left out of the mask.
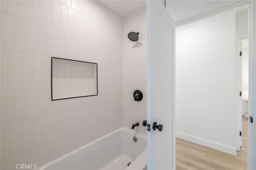
<path id="1" fill-rule="evenodd" d="M 138 141 L 134 142 L 136 136 Z M 146 169 L 146 135 L 119 128 L 38 170 L 138 170 Z M 132 162 L 128 166 L 128 162 Z M 133 163 L 134 162 L 134 163 Z"/>

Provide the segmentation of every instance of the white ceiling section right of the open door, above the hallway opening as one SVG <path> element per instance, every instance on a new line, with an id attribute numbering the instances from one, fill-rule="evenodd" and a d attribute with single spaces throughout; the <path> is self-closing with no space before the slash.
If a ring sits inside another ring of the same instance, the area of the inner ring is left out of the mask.
<path id="1" fill-rule="evenodd" d="M 168 0 L 166 9 L 174 22 L 199 16 L 244 0 Z"/>

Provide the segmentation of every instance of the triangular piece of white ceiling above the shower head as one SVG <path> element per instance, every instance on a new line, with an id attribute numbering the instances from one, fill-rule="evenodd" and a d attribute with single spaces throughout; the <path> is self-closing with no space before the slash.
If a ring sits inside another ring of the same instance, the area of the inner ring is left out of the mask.
<path id="1" fill-rule="evenodd" d="M 146 6 L 146 0 L 100 0 L 100 2 L 121 16 Z"/>

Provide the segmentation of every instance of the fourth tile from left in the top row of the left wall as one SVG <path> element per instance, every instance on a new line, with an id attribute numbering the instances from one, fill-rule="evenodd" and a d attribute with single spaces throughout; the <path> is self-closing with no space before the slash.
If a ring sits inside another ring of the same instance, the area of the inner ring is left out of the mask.
<path id="1" fill-rule="evenodd" d="M 32 21 L 42 24 L 42 0 L 32 0 Z"/>

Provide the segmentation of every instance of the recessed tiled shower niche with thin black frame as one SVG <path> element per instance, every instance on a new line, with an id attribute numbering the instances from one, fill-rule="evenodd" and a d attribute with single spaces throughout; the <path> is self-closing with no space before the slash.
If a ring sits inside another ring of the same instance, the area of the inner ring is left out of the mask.
<path id="1" fill-rule="evenodd" d="M 52 57 L 52 101 L 98 95 L 98 64 Z"/>

